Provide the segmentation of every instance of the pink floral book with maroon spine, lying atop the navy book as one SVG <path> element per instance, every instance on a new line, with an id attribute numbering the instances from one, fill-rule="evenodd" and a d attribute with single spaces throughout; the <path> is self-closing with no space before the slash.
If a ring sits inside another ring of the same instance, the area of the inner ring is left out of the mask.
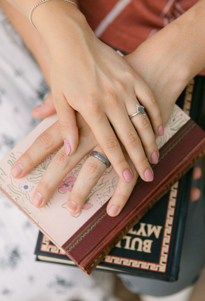
<path id="1" fill-rule="evenodd" d="M 106 206 L 117 179 L 111 166 L 91 191 L 82 212 L 75 216 L 68 213 L 66 201 L 83 161 L 60 183 L 44 208 L 34 207 L 31 195 L 52 155 L 24 178 L 14 180 L 10 174 L 10 168 L 20 153 L 56 118 L 51 116 L 45 119 L 0 161 L 0 191 L 84 272 L 90 274 L 126 232 L 204 154 L 205 132 L 176 106 L 164 136 L 157 138 L 160 158 L 158 164 L 152 165 L 154 180 L 144 182 L 138 179 L 121 213 L 110 217 L 106 213 Z"/>

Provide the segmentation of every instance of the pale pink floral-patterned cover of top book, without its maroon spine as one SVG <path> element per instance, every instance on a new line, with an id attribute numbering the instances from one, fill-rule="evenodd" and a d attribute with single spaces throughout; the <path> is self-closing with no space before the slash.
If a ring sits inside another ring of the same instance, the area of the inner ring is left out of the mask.
<path id="1" fill-rule="evenodd" d="M 156 139 L 158 148 L 160 149 L 189 119 L 190 117 L 175 105 L 170 120 L 164 129 L 164 136 Z M 89 156 L 86 155 L 59 184 L 47 204 L 43 208 L 36 208 L 31 202 L 32 193 L 57 151 L 46 157 L 23 178 L 13 178 L 10 169 L 34 140 L 56 120 L 56 114 L 44 119 L 23 141 L 16 145 L 0 161 L 0 191 L 35 222 L 40 230 L 49 237 L 53 243 L 65 250 L 66 242 L 73 237 L 88 220 L 92 219 L 92 216 L 96 215 L 99 209 L 113 195 L 118 181 L 118 175 L 112 166 L 106 169 L 98 183 L 90 192 L 81 212 L 77 215 L 69 213 L 66 209 L 67 199 L 81 166 Z M 68 252 L 67 255 L 70 256 Z M 75 258 L 73 259 L 75 260 Z M 75 261 L 77 264 L 79 263 L 77 259 Z"/>

